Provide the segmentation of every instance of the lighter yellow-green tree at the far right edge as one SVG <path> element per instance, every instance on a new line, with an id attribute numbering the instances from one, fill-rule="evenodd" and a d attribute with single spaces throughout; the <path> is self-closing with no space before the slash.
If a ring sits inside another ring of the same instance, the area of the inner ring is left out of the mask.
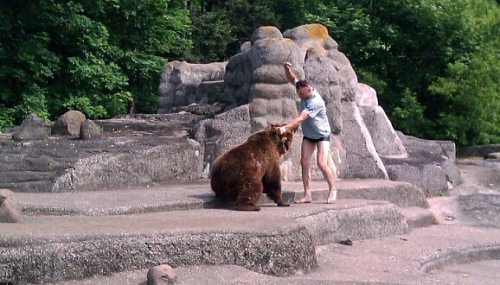
<path id="1" fill-rule="evenodd" d="M 480 48 L 456 62 L 430 86 L 445 98 L 434 136 L 460 145 L 500 142 L 500 9 L 494 2 L 470 6 Z"/>

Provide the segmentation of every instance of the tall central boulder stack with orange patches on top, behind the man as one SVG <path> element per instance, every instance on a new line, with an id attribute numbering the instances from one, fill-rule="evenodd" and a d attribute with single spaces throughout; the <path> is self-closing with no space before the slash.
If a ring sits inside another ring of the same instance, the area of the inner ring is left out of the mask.
<path id="1" fill-rule="evenodd" d="M 299 98 L 285 77 L 284 62 L 291 62 L 294 73 L 311 82 L 325 100 L 334 133 L 331 150 L 340 176 L 387 178 L 355 104 L 356 73 L 322 25 L 304 25 L 284 33 L 276 27 L 257 29 L 251 42 L 226 66 L 224 97 L 229 108 L 249 105 L 251 132 L 295 118 Z M 344 117 L 342 102 L 352 103 L 348 104 L 349 119 Z M 346 122 L 349 128 L 344 130 Z M 361 130 L 364 135 L 359 137 Z M 349 145 L 351 142 L 354 145 Z M 299 161 L 300 143 L 297 143 L 283 160 L 285 179 L 300 179 Z M 322 177 L 316 167 L 313 169 L 314 178 Z"/>

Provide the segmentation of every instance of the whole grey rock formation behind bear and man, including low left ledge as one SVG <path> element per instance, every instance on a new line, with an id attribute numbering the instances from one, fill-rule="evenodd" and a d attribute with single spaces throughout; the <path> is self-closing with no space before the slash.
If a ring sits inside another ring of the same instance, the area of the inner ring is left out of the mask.
<path id="1" fill-rule="evenodd" d="M 103 131 L 102 138 L 87 132 L 83 114 L 71 111 L 52 127 L 52 135 L 61 137 L 43 140 L 48 127 L 34 124 L 28 131 L 41 134 L 35 140 L 0 140 L 0 187 L 60 192 L 207 177 L 220 154 L 269 124 L 297 116 L 299 99 L 285 78 L 285 61 L 326 102 L 338 177 L 405 181 L 428 195 L 461 183 L 454 143 L 394 130 L 376 91 L 358 82 L 327 29 L 312 24 L 283 33 L 261 27 L 227 63 L 167 64 L 159 114 L 96 120 L 97 126 L 87 121 L 88 127 Z M 79 134 L 96 138 L 78 140 Z M 313 179 L 323 179 L 315 164 Z M 281 173 L 284 180 L 301 179 L 300 139 L 282 158 Z"/>

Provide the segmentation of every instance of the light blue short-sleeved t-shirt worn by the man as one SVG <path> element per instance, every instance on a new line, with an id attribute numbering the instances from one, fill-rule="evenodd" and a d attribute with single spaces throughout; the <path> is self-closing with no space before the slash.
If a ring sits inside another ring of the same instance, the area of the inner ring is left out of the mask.
<path id="1" fill-rule="evenodd" d="M 302 132 L 310 139 L 320 139 L 330 136 L 332 130 L 326 116 L 326 105 L 316 89 L 305 100 L 300 100 L 300 112 L 305 111 L 309 116 L 302 122 Z"/>

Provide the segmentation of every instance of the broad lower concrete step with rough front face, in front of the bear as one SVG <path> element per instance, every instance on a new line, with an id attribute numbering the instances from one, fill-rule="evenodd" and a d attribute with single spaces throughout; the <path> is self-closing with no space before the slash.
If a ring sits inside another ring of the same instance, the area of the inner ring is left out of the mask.
<path id="1" fill-rule="evenodd" d="M 289 276 L 316 267 L 315 246 L 403 234 L 387 202 L 264 206 L 256 213 L 199 209 L 116 216 L 29 217 L 2 227 L 6 280 L 43 283 L 173 266 L 234 264 Z"/>

